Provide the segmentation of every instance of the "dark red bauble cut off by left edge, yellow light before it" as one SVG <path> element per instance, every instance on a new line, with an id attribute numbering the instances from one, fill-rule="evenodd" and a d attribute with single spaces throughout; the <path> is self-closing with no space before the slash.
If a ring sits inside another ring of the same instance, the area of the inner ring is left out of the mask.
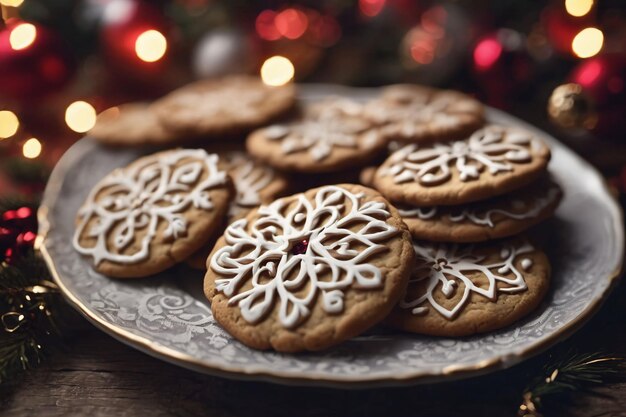
<path id="1" fill-rule="evenodd" d="M 53 93 L 74 69 L 71 54 L 50 29 L 13 20 L 0 30 L 0 96 L 27 100 Z"/>

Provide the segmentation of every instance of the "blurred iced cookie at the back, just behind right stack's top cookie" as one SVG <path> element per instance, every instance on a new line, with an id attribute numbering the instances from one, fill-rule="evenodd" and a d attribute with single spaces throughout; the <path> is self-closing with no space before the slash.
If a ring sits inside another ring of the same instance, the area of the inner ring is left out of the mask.
<path id="1" fill-rule="evenodd" d="M 484 123 L 483 105 L 458 91 L 399 84 L 383 89 L 365 114 L 389 140 L 424 142 L 461 138 Z"/>

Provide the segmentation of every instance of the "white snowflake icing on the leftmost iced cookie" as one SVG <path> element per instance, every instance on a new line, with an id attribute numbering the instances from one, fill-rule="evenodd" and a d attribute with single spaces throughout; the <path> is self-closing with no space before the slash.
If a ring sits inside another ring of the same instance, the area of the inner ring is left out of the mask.
<path id="1" fill-rule="evenodd" d="M 181 160 L 187 161 L 177 166 Z M 109 174 L 92 189 L 78 212 L 75 249 L 93 256 L 96 265 L 103 260 L 134 264 L 147 259 L 160 222 L 167 224 L 163 237 L 177 239 L 187 231 L 185 210 L 190 206 L 207 211 L 213 208 L 209 190 L 227 181 L 226 173 L 218 169 L 217 163 L 215 154 L 209 155 L 202 149 L 182 149 L 147 157 L 130 169 Z M 203 173 L 206 178 L 200 181 Z M 91 222 L 92 219 L 95 221 Z M 139 230 L 146 230 L 139 250 L 132 254 L 117 253 L 134 242 Z M 96 239 L 94 246 L 81 245 L 83 232 Z"/>

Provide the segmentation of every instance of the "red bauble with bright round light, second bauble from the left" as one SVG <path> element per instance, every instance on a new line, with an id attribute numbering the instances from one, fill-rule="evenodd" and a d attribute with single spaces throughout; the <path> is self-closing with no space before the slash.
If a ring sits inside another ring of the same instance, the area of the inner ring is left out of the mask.
<path id="1" fill-rule="evenodd" d="M 156 82 L 168 68 L 169 30 L 170 24 L 161 11 L 148 2 L 108 0 L 103 9 L 100 34 L 105 63 L 119 79 L 144 84 Z M 149 60 L 141 53 L 140 39 L 146 33 L 153 35 L 143 46 L 144 52 L 150 55 Z M 154 36 L 165 38 L 165 49 Z"/>

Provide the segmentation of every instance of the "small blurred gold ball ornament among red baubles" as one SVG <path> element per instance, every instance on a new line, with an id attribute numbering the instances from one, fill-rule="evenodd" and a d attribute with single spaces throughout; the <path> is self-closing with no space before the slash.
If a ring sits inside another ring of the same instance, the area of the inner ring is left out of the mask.
<path id="1" fill-rule="evenodd" d="M 576 83 L 558 86 L 548 100 L 550 120 L 564 129 L 591 130 L 598 122 L 591 99 Z"/>

